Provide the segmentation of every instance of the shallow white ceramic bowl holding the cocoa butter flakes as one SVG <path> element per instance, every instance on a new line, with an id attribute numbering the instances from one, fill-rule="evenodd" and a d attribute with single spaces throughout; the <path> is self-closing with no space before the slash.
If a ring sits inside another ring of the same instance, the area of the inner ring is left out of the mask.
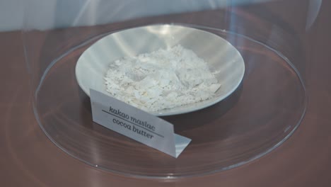
<path id="1" fill-rule="evenodd" d="M 245 64 L 238 50 L 223 38 L 204 30 L 177 25 L 153 25 L 120 30 L 101 38 L 83 52 L 76 64 L 76 79 L 81 89 L 90 96 L 90 89 L 108 94 L 103 77 L 110 62 L 125 56 L 136 56 L 160 48 L 182 45 L 192 50 L 219 71 L 216 79 L 221 88 L 214 98 L 177 108 L 151 112 L 153 115 L 175 115 L 197 111 L 214 105 L 229 96 L 240 85 Z M 108 94 L 110 95 L 110 94 Z"/>

